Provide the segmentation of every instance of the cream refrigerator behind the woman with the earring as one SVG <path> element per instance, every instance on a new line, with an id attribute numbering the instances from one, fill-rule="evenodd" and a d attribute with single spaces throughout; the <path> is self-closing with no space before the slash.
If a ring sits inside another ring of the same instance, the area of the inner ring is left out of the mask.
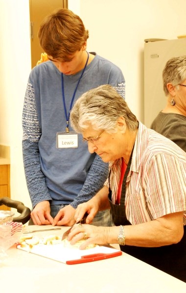
<path id="1" fill-rule="evenodd" d="M 162 72 L 166 62 L 186 55 L 186 38 L 176 40 L 147 39 L 144 43 L 144 124 L 150 127 L 166 105 Z"/>

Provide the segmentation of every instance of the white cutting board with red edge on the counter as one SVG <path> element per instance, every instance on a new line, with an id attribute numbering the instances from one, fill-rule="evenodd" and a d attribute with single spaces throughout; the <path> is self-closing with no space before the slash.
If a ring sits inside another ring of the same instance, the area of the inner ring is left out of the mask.
<path id="1" fill-rule="evenodd" d="M 18 245 L 17 248 L 28 252 L 28 248 L 21 247 L 20 245 Z M 122 251 L 116 250 L 110 246 L 96 246 L 91 249 L 80 250 L 79 248 L 66 248 L 60 243 L 54 245 L 38 244 L 33 246 L 29 252 L 67 264 L 96 261 L 122 254 Z M 80 261 L 70 263 L 70 261 L 74 260 Z"/>

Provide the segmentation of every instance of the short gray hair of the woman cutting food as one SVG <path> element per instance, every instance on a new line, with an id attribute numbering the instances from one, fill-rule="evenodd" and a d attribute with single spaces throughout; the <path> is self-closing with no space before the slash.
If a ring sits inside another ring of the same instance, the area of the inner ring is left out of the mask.
<path id="1" fill-rule="evenodd" d="M 70 124 L 76 132 L 82 133 L 89 124 L 95 130 L 104 129 L 116 133 L 116 122 L 124 117 L 130 131 L 138 128 L 139 122 L 127 103 L 111 85 L 100 85 L 84 93 L 70 112 Z"/>

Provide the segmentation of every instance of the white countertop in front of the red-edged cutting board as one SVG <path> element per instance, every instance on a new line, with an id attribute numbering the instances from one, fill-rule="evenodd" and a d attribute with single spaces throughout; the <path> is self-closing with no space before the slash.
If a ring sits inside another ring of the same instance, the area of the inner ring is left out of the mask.
<path id="1" fill-rule="evenodd" d="M 26 230 L 48 228 L 27 226 Z M 61 235 L 67 229 L 61 227 L 55 234 Z M 54 232 L 34 234 L 44 233 Z M 6 253 L 8 258 L 0 264 L 1 293 L 186 293 L 186 283 L 126 253 L 77 265 L 21 251 L 16 246 Z"/>

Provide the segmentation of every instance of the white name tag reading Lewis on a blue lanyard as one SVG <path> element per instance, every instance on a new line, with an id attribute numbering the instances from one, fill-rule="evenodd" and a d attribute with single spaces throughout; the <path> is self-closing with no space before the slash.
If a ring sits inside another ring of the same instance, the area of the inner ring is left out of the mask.
<path id="1" fill-rule="evenodd" d="M 77 148 L 78 134 L 73 132 L 57 132 L 56 134 L 57 148 Z"/>

